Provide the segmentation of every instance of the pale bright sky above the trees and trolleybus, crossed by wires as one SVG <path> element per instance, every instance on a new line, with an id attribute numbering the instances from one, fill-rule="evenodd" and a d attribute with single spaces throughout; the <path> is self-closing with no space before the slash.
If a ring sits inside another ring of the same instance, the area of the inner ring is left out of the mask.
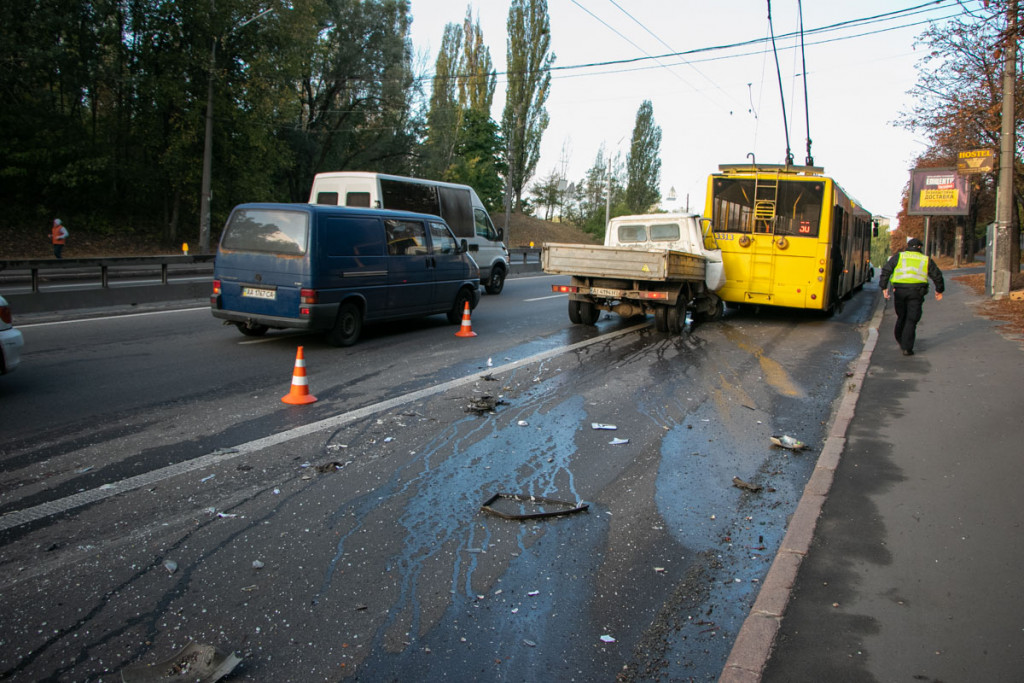
<path id="1" fill-rule="evenodd" d="M 479 17 L 499 72 L 492 117 L 505 105 L 510 0 L 410 0 L 413 49 L 432 72 L 444 25 Z M 640 104 L 662 128 L 663 208 L 702 213 L 708 176 L 720 164 L 785 161 L 783 121 L 798 165 L 807 156 L 861 206 L 895 225 L 913 160 L 927 138 L 896 125 L 925 56 L 915 40 L 929 20 L 976 9 L 979 0 L 803 2 L 807 101 L 798 0 L 771 3 L 784 93 L 771 51 L 767 0 L 548 0 L 552 74 L 541 160 L 534 180 L 557 172 L 582 179 L 603 144 L 625 160 Z M 914 12 L 830 31 L 837 24 L 918 7 Z M 765 39 L 768 39 L 767 41 Z M 752 45 L 722 46 L 746 41 Z M 678 53 L 685 53 L 679 55 Z M 676 56 L 662 56 L 676 54 Z M 651 58 L 655 57 L 655 58 Z M 633 60 L 583 67 L 597 62 Z M 575 68 L 580 67 L 580 68 Z M 809 121 L 808 121 L 809 120 Z M 675 189 L 676 202 L 669 202 Z"/>

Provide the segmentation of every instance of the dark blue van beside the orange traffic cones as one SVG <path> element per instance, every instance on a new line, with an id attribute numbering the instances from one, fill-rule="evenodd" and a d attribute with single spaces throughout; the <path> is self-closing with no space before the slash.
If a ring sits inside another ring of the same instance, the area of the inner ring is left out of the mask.
<path id="1" fill-rule="evenodd" d="M 364 323 L 480 300 L 480 271 L 437 216 L 312 204 L 243 204 L 217 249 L 210 309 L 244 335 L 324 330 L 350 346 Z"/>

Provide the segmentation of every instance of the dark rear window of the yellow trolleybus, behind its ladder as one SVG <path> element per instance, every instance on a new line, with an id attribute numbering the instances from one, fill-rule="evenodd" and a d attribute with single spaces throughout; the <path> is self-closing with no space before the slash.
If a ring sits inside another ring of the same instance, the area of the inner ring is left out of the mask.
<path id="1" fill-rule="evenodd" d="M 770 226 L 775 234 L 816 238 L 821 222 L 821 202 L 824 183 L 780 180 L 778 191 L 761 181 L 758 199 L 762 204 L 774 202 L 774 221 L 758 220 L 758 230 Z M 753 232 L 754 178 L 717 177 L 714 182 L 712 224 L 716 232 Z M 766 200 L 767 198 L 767 200 Z M 759 216 L 764 207 L 759 208 Z"/>

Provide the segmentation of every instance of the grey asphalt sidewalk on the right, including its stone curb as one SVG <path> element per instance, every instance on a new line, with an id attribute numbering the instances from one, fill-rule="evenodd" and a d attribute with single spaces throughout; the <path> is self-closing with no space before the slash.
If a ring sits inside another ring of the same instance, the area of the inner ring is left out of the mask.
<path id="1" fill-rule="evenodd" d="M 722 681 L 1024 680 L 1024 351 L 945 274 L 915 355 L 872 321 Z"/>

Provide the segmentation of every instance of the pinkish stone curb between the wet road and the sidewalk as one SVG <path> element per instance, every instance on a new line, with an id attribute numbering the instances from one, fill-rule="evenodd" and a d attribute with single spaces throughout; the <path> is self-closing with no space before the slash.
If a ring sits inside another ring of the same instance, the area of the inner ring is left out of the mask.
<path id="1" fill-rule="evenodd" d="M 868 323 L 864 348 L 854 366 L 853 377 L 847 382 L 850 390 L 843 394 L 831 429 L 818 455 L 814 472 L 804 486 L 804 494 L 758 592 L 751 613 L 736 635 L 729 658 L 726 659 L 725 668 L 718 679 L 719 683 L 757 683 L 761 680 L 771 657 L 800 565 L 814 540 L 814 529 L 821 515 L 821 507 L 828 497 L 828 490 L 836 478 L 836 468 L 839 467 L 840 458 L 846 449 L 846 432 L 853 420 L 857 400 L 860 398 L 860 389 L 871 364 L 871 353 L 874 352 L 879 340 L 879 327 L 882 325 L 885 304 L 879 307 L 876 302 L 876 308 L 871 322 Z"/>

